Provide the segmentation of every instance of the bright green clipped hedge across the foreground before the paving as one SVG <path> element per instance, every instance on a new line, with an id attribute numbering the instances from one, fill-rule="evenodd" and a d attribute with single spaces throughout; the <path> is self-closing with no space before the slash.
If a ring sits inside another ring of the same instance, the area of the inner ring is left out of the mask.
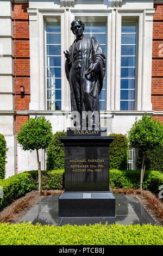
<path id="1" fill-rule="evenodd" d="M 158 225 L 0 224 L 0 245 L 163 245 Z"/>

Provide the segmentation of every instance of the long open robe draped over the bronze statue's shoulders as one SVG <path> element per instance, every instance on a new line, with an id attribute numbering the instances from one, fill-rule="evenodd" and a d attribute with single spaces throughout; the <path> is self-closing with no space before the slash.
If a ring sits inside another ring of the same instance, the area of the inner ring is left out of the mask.
<path id="1" fill-rule="evenodd" d="M 101 93 L 103 87 L 103 78 L 105 75 L 105 55 L 102 51 L 101 45 L 95 37 L 85 36 L 80 42 L 80 49 L 82 52 L 82 65 L 80 70 L 80 101 L 82 105 L 82 111 L 80 115 L 82 116 L 83 111 L 91 111 L 92 114 L 95 111 L 99 113 L 99 94 Z M 69 49 L 69 54 L 71 62 L 68 63 L 66 60 L 65 71 L 67 80 L 70 83 L 71 89 L 71 111 L 73 118 L 73 111 L 78 111 L 76 96 L 74 95 L 73 87 L 73 53 L 74 53 L 74 42 Z M 98 63 L 98 72 L 93 72 L 88 76 L 85 72 L 93 63 Z"/>

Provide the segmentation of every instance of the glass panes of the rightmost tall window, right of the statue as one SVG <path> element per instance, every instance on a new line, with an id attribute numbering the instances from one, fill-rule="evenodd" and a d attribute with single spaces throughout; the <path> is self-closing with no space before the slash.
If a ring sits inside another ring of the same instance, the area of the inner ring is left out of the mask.
<path id="1" fill-rule="evenodd" d="M 122 22 L 120 96 L 122 111 L 135 110 L 136 31 L 136 22 Z"/>

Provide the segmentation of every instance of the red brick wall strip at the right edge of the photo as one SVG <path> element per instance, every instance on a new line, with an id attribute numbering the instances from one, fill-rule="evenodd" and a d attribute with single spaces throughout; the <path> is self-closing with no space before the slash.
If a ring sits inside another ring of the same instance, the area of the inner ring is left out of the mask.
<path id="1" fill-rule="evenodd" d="M 152 56 L 152 108 L 163 111 L 163 4 L 154 4 Z M 154 118 L 162 121 L 161 116 Z"/>

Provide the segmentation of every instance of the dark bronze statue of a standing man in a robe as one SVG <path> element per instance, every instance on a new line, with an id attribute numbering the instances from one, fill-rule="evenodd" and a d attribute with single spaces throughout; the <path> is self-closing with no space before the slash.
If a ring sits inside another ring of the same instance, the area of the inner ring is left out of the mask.
<path id="1" fill-rule="evenodd" d="M 92 113 L 92 125 L 99 127 L 94 114 L 99 117 L 99 94 L 103 87 L 105 75 L 105 55 L 95 37 L 85 36 L 84 23 L 74 20 L 71 31 L 76 35 L 69 51 L 64 52 L 66 57 L 65 71 L 71 89 L 71 110 L 80 114 L 82 127 L 82 113 Z"/>

